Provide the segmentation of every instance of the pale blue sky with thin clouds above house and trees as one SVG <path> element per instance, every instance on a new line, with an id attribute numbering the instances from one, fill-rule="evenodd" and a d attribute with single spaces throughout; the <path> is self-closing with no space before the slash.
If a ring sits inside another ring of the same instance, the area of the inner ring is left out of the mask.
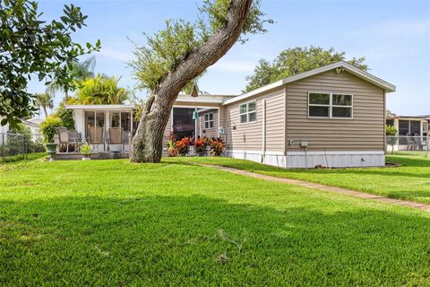
<path id="1" fill-rule="evenodd" d="M 96 73 L 121 76 L 121 85 L 136 81 L 125 64 L 133 58 L 142 32 L 164 27 L 165 19 L 196 18 L 199 1 L 44 1 L 44 18 L 58 18 L 63 5 L 73 3 L 89 16 L 77 42 L 101 40 Z M 236 44 L 210 67 L 199 85 L 211 93 L 238 94 L 245 88 L 260 58 L 273 59 L 286 48 L 321 46 L 366 57 L 374 74 L 397 86 L 387 95 L 388 109 L 401 115 L 430 114 L 430 1 L 262 1 L 262 10 L 276 23 L 245 45 Z M 128 38 L 128 39 L 127 39 Z M 31 83 L 30 92 L 44 91 Z M 145 97 L 146 91 L 138 95 Z M 60 96 L 56 101 L 60 100 Z"/>

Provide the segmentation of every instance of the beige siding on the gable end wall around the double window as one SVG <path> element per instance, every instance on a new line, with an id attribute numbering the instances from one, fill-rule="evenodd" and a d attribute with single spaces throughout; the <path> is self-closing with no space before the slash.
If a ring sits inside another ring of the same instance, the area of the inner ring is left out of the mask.
<path id="1" fill-rule="evenodd" d="M 308 118 L 309 91 L 353 94 L 353 118 Z M 335 70 L 286 86 L 286 149 L 308 151 L 383 151 L 384 91 L 348 72 Z M 294 143 L 289 145 L 288 141 Z"/>

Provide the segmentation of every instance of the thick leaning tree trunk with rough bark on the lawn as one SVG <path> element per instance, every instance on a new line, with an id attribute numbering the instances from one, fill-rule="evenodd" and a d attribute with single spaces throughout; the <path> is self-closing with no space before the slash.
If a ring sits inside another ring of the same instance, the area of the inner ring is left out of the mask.
<path id="1" fill-rule="evenodd" d="M 152 91 L 133 137 L 132 162 L 159 162 L 163 135 L 177 95 L 196 76 L 223 57 L 239 38 L 253 0 L 231 0 L 226 24 L 196 48 Z"/>

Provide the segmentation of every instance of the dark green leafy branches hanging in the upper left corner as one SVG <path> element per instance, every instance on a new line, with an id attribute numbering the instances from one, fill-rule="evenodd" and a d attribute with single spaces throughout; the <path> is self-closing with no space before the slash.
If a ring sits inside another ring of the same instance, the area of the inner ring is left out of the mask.
<path id="1" fill-rule="evenodd" d="M 36 110 L 34 97 L 26 91 L 32 76 L 49 84 L 53 79 L 73 86 L 68 73 L 77 57 L 100 48 L 73 42 L 74 31 L 85 26 L 87 16 L 79 7 L 64 5 L 60 19 L 46 22 L 38 3 L 30 0 L 0 0 L 0 116 L 1 124 L 15 126 L 19 118 Z"/>

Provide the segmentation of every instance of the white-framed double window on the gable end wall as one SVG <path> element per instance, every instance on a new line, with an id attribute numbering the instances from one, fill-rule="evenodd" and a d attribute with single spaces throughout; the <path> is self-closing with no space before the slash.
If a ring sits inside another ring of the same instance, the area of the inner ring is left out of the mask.
<path id="1" fill-rule="evenodd" d="M 352 118 L 352 95 L 309 92 L 308 117 Z"/>

